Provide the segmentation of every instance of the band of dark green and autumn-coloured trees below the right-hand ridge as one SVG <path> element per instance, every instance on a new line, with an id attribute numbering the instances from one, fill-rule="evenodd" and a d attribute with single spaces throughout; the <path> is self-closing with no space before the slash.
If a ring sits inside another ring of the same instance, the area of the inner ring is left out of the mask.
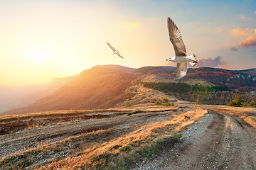
<path id="1" fill-rule="evenodd" d="M 228 106 L 256 106 L 256 96 L 249 93 L 235 93 L 229 91 L 227 86 L 201 86 L 195 84 L 190 86 L 185 83 L 144 83 L 145 87 L 164 91 L 166 94 L 174 95 L 182 100 L 196 101 L 196 103 L 227 105 Z M 242 101 L 236 99 L 240 97 Z"/>

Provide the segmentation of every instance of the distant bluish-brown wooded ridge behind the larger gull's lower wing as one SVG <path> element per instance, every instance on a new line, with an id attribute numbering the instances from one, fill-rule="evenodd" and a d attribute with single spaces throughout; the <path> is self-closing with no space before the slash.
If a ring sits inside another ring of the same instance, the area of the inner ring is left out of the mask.
<path id="1" fill-rule="evenodd" d="M 135 72 L 151 75 L 151 77 L 144 79 L 145 81 L 174 82 L 176 78 L 176 67 L 142 67 Z M 231 91 L 250 92 L 256 90 L 255 73 L 256 69 L 228 70 L 201 67 L 188 69 L 186 77 L 179 81 L 190 84 L 190 80 L 204 80 L 210 84 L 228 86 Z"/>

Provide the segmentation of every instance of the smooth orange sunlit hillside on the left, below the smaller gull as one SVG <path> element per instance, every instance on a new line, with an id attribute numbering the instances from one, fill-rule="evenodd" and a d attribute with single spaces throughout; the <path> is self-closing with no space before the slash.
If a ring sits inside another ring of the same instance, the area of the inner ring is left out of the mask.
<path id="1" fill-rule="evenodd" d="M 131 71 L 132 69 L 127 67 L 114 65 L 92 67 L 81 72 L 74 81 L 55 93 L 25 108 L 4 114 L 114 107 L 119 101 L 131 96 L 129 91 L 124 91 L 139 75 Z"/>

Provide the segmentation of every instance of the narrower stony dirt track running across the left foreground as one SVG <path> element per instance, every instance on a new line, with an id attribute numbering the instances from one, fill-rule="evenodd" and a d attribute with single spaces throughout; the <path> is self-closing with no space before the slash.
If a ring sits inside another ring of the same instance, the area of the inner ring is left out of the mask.
<path id="1" fill-rule="evenodd" d="M 102 116 L 102 118 L 99 116 L 102 113 L 96 112 L 93 115 L 97 115 L 97 119 L 72 121 L 63 123 L 62 125 L 50 125 L 43 128 L 20 130 L 11 134 L 0 135 L 0 159 L 20 150 L 61 141 L 68 137 L 91 132 L 92 130 L 122 128 L 135 124 L 146 125 L 157 121 L 169 120 L 173 114 L 190 110 L 191 108 L 183 107 L 162 111 L 119 111 L 118 114 L 111 112 L 104 113 L 105 116 Z M 62 116 L 64 117 L 65 115 Z"/>

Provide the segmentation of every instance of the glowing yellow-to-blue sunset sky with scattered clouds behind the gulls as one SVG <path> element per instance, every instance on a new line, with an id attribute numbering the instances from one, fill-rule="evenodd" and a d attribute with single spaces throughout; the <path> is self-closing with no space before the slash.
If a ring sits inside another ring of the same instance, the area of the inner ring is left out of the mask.
<path id="1" fill-rule="evenodd" d="M 47 83 L 99 64 L 176 66 L 166 62 L 175 55 L 167 16 L 198 67 L 256 67 L 255 0 L 0 0 L 0 86 Z"/>

